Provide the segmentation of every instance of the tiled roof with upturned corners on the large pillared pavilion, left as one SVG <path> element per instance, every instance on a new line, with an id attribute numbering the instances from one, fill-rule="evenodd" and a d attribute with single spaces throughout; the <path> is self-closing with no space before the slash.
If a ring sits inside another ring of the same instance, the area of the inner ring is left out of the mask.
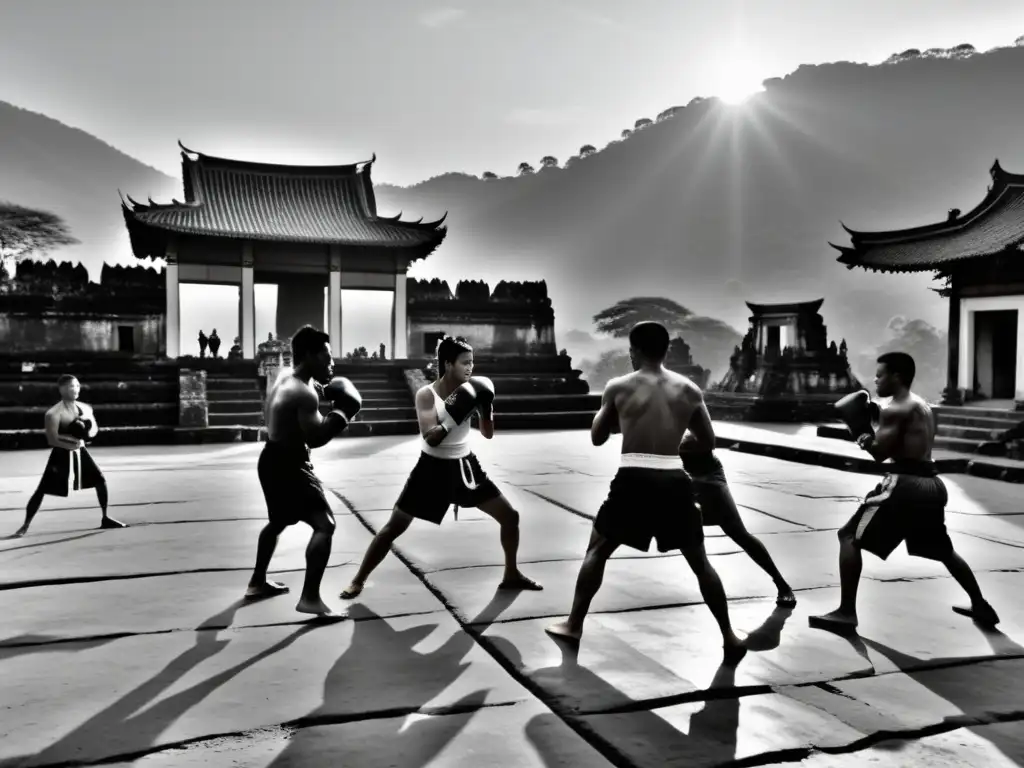
<path id="1" fill-rule="evenodd" d="M 376 156 L 352 165 L 285 166 L 214 158 L 178 145 L 183 202 L 122 200 L 136 256 L 162 256 L 147 253 L 162 240 L 154 238 L 160 232 L 427 253 L 447 232 L 441 226 L 447 214 L 430 222 L 377 215 L 370 178 Z"/>

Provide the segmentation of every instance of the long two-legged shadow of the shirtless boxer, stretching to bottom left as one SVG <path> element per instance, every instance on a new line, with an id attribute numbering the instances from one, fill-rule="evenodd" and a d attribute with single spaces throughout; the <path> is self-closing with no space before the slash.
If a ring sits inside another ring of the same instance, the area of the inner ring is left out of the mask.
<path id="1" fill-rule="evenodd" d="M 203 622 L 196 629 L 195 644 L 191 647 L 168 662 L 155 676 L 33 756 L 34 762 L 61 763 L 70 759 L 90 762 L 110 757 L 112 750 L 116 750 L 117 755 L 145 752 L 157 744 L 161 734 L 178 718 L 221 685 L 267 656 L 284 650 L 306 633 L 324 626 L 305 623 L 256 655 L 139 712 L 194 669 L 222 651 L 230 641 L 220 637 L 220 630 L 230 627 L 239 608 L 247 604 L 250 603 L 237 600 Z"/>

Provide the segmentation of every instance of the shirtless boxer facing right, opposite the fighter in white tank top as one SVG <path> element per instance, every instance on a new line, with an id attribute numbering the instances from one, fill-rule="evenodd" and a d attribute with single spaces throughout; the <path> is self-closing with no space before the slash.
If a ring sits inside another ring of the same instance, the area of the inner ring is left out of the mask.
<path id="1" fill-rule="evenodd" d="M 321 447 L 340 434 L 362 406 L 362 398 L 348 379 L 334 374 L 331 337 L 312 326 L 303 326 L 292 337 L 293 370 L 282 372 L 266 398 L 267 441 L 260 453 L 259 482 L 266 499 L 269 521 L 259 535 L 256 567 L 248 599 L 272 597 L 289 591 L 266 580 L 266 569 L 281 532 L 297 522 L 313 529 L 306 547 L 306 579 L 295 609 L 300 613 L 333 618 L 337 614 L 321 599 L 319 587 L 331 557 L 334 513 L 324 487 L 313 473 L 309 450 Z M 329 383 L 328 383 L 329 382 Z M 332 411 L 319 415 L 319 384 Z"/>

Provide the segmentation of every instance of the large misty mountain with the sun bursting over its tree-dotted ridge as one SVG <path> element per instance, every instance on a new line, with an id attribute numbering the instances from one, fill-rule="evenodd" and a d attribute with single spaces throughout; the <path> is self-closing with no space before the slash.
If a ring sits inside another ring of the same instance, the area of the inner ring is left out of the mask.
<path id="1" fill-rule="evenodd" d="M 847 270 L 828 242 L 849 243 L 840 220 L 888 229 L 970 210 L 995 158 L 1024 171 L 1024 48 L 801 67 L 765 87 L 738 108 L 695 99 L 667 111 L 567 169 L 380 185 L 378 205 L 449 211 L 444 247 L 418 270 L 543 276 L 563 328 L 590 327 L 631 295 L 743 331 L 744 300 L 823 296 L 829 340 L 846 338 L 853 354 L 873 353 L 897 314 L 944 327 L 930 274 Z"/>

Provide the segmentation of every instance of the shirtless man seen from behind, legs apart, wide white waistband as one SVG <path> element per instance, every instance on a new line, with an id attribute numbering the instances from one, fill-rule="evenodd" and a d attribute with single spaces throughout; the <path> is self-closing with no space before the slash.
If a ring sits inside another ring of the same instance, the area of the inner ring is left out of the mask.
<path id="1" fill-rule="evenodd" d="M 715 447 L 715 432 L 700 388 L 663 365 L 668 351 L 664 326 L 638 323 L 630 331 L 635 373 L 608 382 L 591 427 L 595 445 L 603 445 L 612 431 L 622 431 L 620 469 L 594 520 L 568 621 L 546 631 L 579 641 L 608 558 L 621 544 L 646 552 L 653 539 L 659 552 L 682 551 L 722 631 L 725 663 L 737 664 L 746 648 L 730 626 L 722 581 L 705 551 L 693 481 L 679 462 L 687 429 L 692 434 L 688 450 L 706 454 Z"/>

